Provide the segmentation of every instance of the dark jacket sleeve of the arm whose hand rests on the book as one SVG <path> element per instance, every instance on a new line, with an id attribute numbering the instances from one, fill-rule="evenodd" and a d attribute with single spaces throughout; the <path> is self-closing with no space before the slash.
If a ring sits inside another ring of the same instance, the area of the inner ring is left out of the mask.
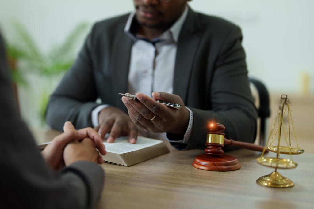
<path id="1" fill-rule="evenodd" d="M 74 127 L 91 127 L 91 112 L 98 106 L 95 101 L 93 60 L 91 53 L 92 35 L 89 34 L 78 58 L 51 95 L 46 109 L 46 122 L 54 129 L 62 130 L 66 121 Z"/>

